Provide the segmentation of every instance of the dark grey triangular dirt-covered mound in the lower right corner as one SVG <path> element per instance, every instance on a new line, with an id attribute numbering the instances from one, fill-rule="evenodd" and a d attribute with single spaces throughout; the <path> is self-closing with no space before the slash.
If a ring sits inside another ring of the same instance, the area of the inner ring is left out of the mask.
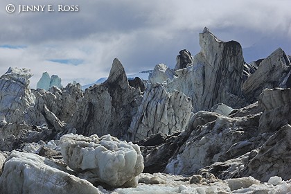
<path id="1" fill-rule="evenodd" d="M 240 171 L 241 176 L 250 175 L 263 182 L 274 176 L 283 180 L 291 179 L 291 126 L 281 127 L 254 154 Z"/>

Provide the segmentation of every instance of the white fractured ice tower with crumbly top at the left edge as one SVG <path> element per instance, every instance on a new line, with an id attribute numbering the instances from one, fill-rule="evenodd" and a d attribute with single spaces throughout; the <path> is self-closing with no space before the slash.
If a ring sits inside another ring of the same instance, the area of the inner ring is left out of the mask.
<path id="1" fill-rule="evenodd" d="M 28 69 L 10 67 L 0 78 L 0 120 L 17 121 L 24 110 L 33 106 L 35 96 L 30 91 Z"/>

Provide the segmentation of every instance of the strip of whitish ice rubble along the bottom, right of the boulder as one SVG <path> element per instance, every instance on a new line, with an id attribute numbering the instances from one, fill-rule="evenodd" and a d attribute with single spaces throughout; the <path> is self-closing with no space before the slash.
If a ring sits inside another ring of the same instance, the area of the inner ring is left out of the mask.
<path id="1" fill-rule="evenodd" d="M 193 176 L 197 177 L 197 176 Z M 211 182 L 210 177 L 202 178 L 201 183 L 191 183 L 193 177 L 166 175 L 161 173 L 141 174 L 140 183 L 136 188 L 117 188 L 112 193 L 288 193 L 291 191 L 290 181 L 280 181 L 279 177 L 270 178 L 270 183 L 261 183 L 253 177 L 243 179 L 228 179 L 225 181 L 216 179 Z M 272 184 L 276 182 L 276 184 Z M 238 188 L 240 186 L 240 188 Z"/>

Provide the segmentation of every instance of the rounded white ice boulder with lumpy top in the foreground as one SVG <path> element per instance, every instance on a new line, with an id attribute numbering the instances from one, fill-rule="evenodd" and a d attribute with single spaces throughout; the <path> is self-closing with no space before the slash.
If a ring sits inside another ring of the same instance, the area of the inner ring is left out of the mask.
<path id="1" fill-rule="evenodd" d="M 109 134 L 100 138 L 66 134 L 61 137 L 61 152 L 67 165 L 90 182 L 110 186 L 136 186 L 143 171 L 139 145 L 120 141 Z"/>

